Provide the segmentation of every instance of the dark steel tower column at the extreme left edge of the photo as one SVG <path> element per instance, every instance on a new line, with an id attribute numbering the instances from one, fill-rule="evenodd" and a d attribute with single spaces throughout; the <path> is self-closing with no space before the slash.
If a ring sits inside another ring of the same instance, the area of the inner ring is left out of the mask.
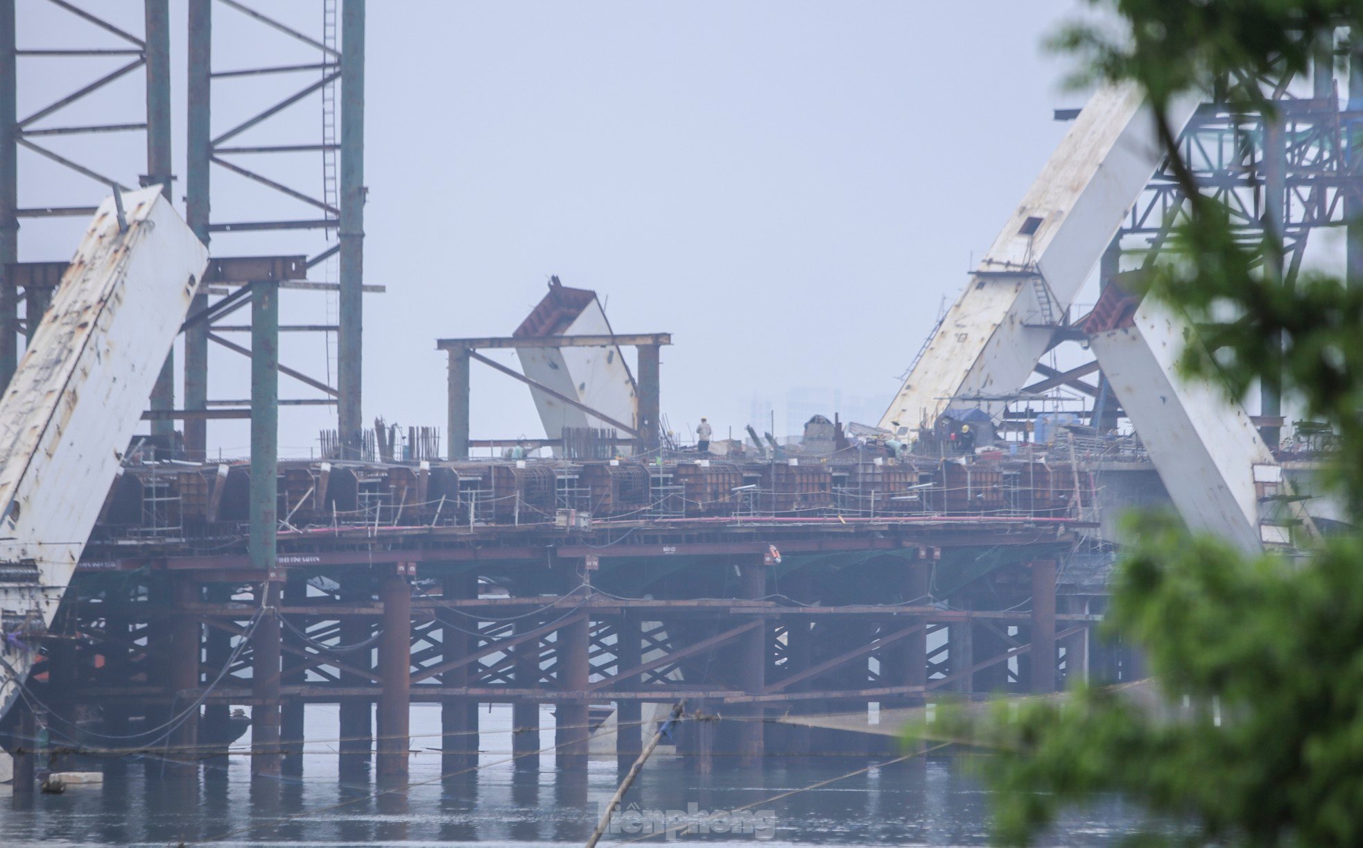
<path id="1" fill-rule="evenodd" d="M 0 0 L 0 390 L 19 361 L 19 299 L 5 266 L 19 262 L 19 116 L 14 41 L 15 0 Z"/>

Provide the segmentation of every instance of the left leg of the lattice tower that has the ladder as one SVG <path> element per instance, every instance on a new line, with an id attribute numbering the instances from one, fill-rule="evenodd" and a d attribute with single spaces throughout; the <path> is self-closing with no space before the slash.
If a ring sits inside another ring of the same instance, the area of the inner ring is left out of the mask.
<path id="1" fill-rule="evenodd" d="M 213 70 L 213 0 L 189 0 L 188 110 L 185 134 L 185 224 L 199 241 L 209 244 Z M 209 294 L 195 294 L 189 315 L 209 307 Z M 184 331 L 184 408 L 209 406 L 209 322 L 198 322 Z M 189 459 L 207 458 L 209 420 L 189 417 L 184 421 L 184 450 Z"/>

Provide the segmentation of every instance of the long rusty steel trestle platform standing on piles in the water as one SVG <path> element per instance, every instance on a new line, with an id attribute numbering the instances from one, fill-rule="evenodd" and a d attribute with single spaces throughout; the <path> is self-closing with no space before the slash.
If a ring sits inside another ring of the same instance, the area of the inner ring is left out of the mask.
<path id="1" fill-rule="evenodd" d="M 1086 473 L 863 459 L 284 462 L 269 569 L 248 464 L 129 465 L 27 698 L 76 748 L 147 728 L 129 746 L 172 762 L 225 753 L 248 706 L 262 774 L 301 768 L 305 705 L 339 703 L 343 759 L 376 742 L 380 776 L 408 769 L 413 702 L 442 705 L 416 747 L 455 773 L 480 705 L 514 705 L 530 763 L 553 703 L 557 763 L 583 768 L 612 709 L 632 759 L 643 705 L 684 699 L 676 744 L 706 770 L 874 744 L 778 716 L 1134 673 L 1090 634 L 1101 586 L 1056 569 L 1092 526 Z"/>

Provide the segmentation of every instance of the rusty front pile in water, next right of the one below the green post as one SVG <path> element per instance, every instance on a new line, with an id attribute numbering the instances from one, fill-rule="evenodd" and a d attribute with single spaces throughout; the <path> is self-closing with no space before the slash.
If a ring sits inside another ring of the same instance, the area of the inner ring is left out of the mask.
<path id="1" fill-rule="evenodd" d="M 390 566 L 391 567 L 391 566 Z M 379 777 L 408 773 L 412 725 L 412 584 L 406 563 L 379 579 Z"/>

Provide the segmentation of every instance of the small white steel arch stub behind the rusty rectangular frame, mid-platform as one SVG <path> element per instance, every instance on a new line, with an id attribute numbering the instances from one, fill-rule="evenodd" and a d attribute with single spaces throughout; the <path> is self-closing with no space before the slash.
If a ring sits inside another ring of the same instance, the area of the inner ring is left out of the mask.
<path id="1" fill-rule="evenodd" d="M 601 301 L 592 301 L 572 319 L 560 335 L 613 335 Z M 517 350 L 525 375 L 592 409 L 638 427 L 638 398 L 634 376 L 617 345 L 601 348 L 521 348 Z M 549 439 L 563 435 L 564 427 L 602 427 L 611 424 L 575 406 L 532 389 L 534 406 Z M 620 434 L 624 436 L 626 434 Z M 628 453 L 624 450 L 624 453 Z"/>

